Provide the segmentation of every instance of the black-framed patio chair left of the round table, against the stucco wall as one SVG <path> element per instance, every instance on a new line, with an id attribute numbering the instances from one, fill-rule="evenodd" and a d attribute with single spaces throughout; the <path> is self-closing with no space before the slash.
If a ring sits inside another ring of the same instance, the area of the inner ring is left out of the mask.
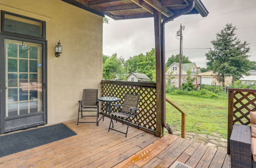
<path id="1" fill-rule="evenodd" d="M 82 100 L 78 101 L 78 118 L 77 118 L 77 125 L 78 123 L 96 123 L 98 125 L 98 118 L 99 118 L 99 102 L 98 102 L 98 90 L 97 89 L 84 89 Z M 96 109 L 96 110 L 94 110 Z M 97 111 L 96 116 L 83 116 L 83 112 L 93 112 Z M 96 122 L 79 122 L 79 114 L 81 112 L 81 118 L 83 117 L 96 117 Z"/>

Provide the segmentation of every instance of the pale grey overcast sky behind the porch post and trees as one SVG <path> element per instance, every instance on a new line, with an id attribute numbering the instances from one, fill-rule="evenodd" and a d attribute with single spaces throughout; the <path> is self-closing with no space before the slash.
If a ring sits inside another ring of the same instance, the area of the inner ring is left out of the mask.
<path id="1" fill-rule="evenodd" d="M 256 1 L 255 0 L 201 0 L 209 14 L 180 16 L 166 24 L 166 61 L 172 54 L 179 54 L 179 39 L 176 32 L 180 23 L 183 31 L 183 54 L 199 67 L 205 67 L 205 53 L 210 41 L 226 23 L 237 26 L 236 34 L 242 41 L 250 43 L 250 60 L 256 61 Z M 153 18 L 118 20 L 110 19 L 103 25 L 103 53 L 127 60 L 155 47 Z M 196 48 L 196 49 L 185 49 Z"/>

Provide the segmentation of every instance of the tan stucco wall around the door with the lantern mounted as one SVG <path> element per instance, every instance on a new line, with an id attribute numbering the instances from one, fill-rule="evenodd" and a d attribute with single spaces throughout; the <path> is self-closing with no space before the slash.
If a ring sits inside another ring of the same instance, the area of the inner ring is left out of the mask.
<path id="1" fill-rule="evenodd" d="M 0 0 L 0 10 L 46 21 L 48 123 L 77 118 L 82 89 L 100 89 L 102 17 L 60 0 Z M 56 58 L 58 40 L 63 53 Z"/>

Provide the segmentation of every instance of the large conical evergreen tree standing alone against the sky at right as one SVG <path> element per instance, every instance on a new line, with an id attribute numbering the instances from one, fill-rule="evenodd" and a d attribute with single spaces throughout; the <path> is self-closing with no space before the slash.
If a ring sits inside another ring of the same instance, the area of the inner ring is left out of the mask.
<path id="1" fill-rule="evenodd" d="M 236 26 L 226 24 L 220 33 L 216 34 L 216 39 L 211 41 L 213 49 L 206 53 L 206 65 L 217 74 L 217 79 L 224 87 L 225 76 L 232 76 L 232 85 L 235 79 L 240 79 L 242 75 L 252 68 L 252 62 L 248 60 L 250 48 L 246 41 L 236 37 L 234 33 Z"/>

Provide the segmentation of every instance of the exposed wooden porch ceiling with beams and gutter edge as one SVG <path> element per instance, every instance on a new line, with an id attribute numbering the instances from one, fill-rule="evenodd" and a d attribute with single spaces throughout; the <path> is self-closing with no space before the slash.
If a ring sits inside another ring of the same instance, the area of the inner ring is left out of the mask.
<path id="1" fill-rule="evenodd" d="M 61 0 L 100 16 L 109 16 L 114 20 L 153 17 L 153 10 L 169 17 L 184 10 L 189 0 Z M 187 14 L 208 15 L 201 0 L 194 0 L 194 9 Z"/>

